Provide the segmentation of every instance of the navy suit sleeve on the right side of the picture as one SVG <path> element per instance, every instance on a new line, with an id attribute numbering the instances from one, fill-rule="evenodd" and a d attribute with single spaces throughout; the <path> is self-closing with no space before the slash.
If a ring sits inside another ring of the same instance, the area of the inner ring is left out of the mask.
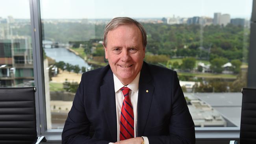
<path id="1" fill-rule="evenodd" d="M 176 72 L 173 73 L 172 99 L 169 135 L 148 137 L 149 144 L 195 144 L 195 125 Z"/>

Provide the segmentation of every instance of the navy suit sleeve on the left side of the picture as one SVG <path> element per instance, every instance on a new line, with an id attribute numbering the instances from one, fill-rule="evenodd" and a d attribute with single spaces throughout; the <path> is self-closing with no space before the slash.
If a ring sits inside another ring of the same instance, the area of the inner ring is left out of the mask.
<path id="1" fill-rule="evenodd" d="M 89 137 L 90 122 L 86 116 L 83 99 L 84 74 L 63 128 L 62 144 L 108 144 L 108 141 Z"/>

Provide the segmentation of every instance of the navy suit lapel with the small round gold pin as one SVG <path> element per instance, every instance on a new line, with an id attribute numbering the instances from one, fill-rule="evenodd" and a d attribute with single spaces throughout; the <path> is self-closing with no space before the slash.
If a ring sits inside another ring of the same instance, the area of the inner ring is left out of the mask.
<path id="1" fill-rule="evenodd" d="M 138 137 L 143 136 L 148 121 L 148 114 L 154 93 L 154 86 L 150 83 L 151 75 L 148 72 L 147 64 L 143 64 L 139 78 L 139 95 L 137 105 L 137 129 Z"/>

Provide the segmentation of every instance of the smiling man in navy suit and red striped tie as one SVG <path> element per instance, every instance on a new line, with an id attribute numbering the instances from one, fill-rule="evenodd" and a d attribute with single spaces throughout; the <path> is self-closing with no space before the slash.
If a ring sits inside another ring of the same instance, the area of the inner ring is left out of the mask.
<path id="1" fill-rule="evenodd" d="M 143 62 L 146 45 L 139 22 L 128 17 L 109 22 L 103 42 L 109 65 L 83 73 L 63 144 L 195 144 L 177 74 Z"/>

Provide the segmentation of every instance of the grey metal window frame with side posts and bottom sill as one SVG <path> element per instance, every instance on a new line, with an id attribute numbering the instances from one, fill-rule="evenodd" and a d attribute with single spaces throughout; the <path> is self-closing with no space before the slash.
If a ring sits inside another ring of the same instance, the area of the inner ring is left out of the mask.
<path id="1" fill-rule="evenodd" d="M 59 142 L 61 140 L 62 129 L 47 129 L 46 124 L 40 0 L 30 0 L 30 16 L 32 29 L 33 70 L 35 87 L 37 87 L 37 91 L 35 92 L 37 134 L 46 136 L 48 141 Z M 250 40 L 253 38 L 256 39 L 256 0 L 253 0 L 251 17 Z M 256 57 L 254 55 L 256 55 L 256 41 L 250 41 L 247 77 L 247 87 L 250 88 L 256 88 L 256 67 L 253 66 L 253 62 L 256 61 Z M 239 131 L 240 127 L 195 127 L 197 140 L 239 140 Z"/>

